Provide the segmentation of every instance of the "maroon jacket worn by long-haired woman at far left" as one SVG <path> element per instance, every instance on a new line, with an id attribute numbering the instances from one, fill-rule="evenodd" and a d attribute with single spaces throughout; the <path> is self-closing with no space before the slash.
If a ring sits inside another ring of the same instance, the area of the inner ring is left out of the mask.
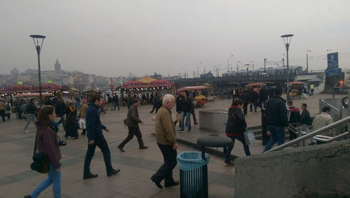
<path id="1" fill-rule="evenodd" d="M 50 163 L 58 169 L 61 167 L 59 160 L 62 159 L 61 150 L 59 150 L 57 132 L 54 127 L 45 127 L 41 122 L 36 122 L 37 137 L 36 146 L 38 153 L 48 156 Z"/>

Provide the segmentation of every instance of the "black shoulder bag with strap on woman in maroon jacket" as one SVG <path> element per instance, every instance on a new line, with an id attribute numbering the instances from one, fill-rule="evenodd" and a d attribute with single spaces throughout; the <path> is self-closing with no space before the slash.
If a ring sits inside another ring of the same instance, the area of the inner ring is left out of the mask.
<path id="1" fill-rule="evenodd" d="M 45 174 L 50 171 L 50 160 L 48 156 L 43 155 L 43 153 L 36 153 L 36 139 L 38 137 L 38 132 L 36 132 L 35 143 L 34 143 L 34 154 L 33 161 L 30 164 L 30 168 L 38 173 Z"/>

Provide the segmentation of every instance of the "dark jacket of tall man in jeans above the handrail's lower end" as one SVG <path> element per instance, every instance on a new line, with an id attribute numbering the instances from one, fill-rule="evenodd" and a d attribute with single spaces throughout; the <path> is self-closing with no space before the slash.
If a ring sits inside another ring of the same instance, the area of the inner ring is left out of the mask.
<path id="1" fill-rule="evenodd" d="M 267 125 L 276 127 L 288 127 L 286 101 L 279 96 L 274 95 L 266 103 L 266 122 Z"/>

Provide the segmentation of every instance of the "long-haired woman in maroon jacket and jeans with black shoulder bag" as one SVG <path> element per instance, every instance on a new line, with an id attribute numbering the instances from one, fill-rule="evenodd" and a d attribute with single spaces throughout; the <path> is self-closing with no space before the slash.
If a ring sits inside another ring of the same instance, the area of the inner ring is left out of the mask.
<path id="1" fill-rule="evenodd" d="M 50 161 L 50 170 L 48 171 L 48 178 L 38 185 L 31 192 L 30 195 L 26 195 L 25 198 L 35 198 L 48 188 L 52 184 L 53 197 L 61 197 L 61 151 L 59 150 L 57 132 L 52 126 L 52 121 L 56 118 L 55 111 L 52 106 L 44 106 L 38 113 L 38 122 L 36 122 L 37 136 L 36 136 L 36 146 L 38 148 L 38 153 L 43 153 L 47 156 Z"/>

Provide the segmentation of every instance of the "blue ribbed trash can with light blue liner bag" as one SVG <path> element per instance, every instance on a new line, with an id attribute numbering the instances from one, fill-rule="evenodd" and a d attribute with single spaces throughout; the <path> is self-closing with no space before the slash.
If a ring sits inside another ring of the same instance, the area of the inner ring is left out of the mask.
<path id="1" fill-rule="evenodd" d="M 209 155 L 198 151 L 185 151 L 177 155 L 180 167 L 181 197 L 208 197 L 208 167 Z"/>

